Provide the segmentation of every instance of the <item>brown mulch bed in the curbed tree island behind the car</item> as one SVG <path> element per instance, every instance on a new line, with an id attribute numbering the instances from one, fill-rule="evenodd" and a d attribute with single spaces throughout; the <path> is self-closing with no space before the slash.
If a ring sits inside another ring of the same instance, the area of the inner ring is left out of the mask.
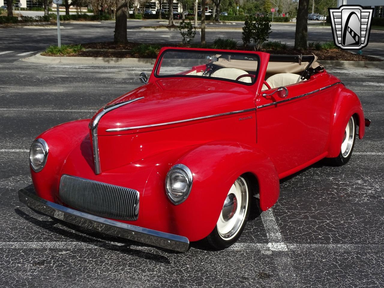
<path id="1" fill-rule="evenodd" d="M 115 44 L 113 42 L 96 42 L 96 43 L 86 43 L 81 44 L 87 51 L 80 51 L 77 54 L 66 55 L 66 56 L 74 56 L 74 57 L 108 57 L 108 58 L 151 58 L 151 57 L 143 57 L 141 55 L 132 55 L 131 49 L 141 45 L 142 43 L 129 42 L 127 44 Z M 164 45 L 164 44 L 152 44 L 159 46 L 171 46 L 171 47 L 190 47 L 188 45 Z M 88 50 L 91 49 L 91 50 Z M 237 46 L 237 50 L 248 50 L 251 51 L 252 47 L 248 46 L 244 48 L 244 46 Z M 336 60 L 336 61 L 383 61 L 379 58 L 366 56 L 366 55 L 357 55 L 351 53 L 349 51 L 344 51 L 341 49 L 330 49 L 330 50 L 315 50 L 315 49 L 307 49 L 303 51 L 293 50 L 292 48 L 288 48 L 285 50 L 260 50 L 262 52 L 270 53 L 270 54 L 279 54 L 279 55 L 311 55 L 312 53 L 318 56 L 318 60 Z M 60 56 L 60 55 L 47 55 L 46 56 Z M 154 58 L 154 57 L 152 57 Z"/>

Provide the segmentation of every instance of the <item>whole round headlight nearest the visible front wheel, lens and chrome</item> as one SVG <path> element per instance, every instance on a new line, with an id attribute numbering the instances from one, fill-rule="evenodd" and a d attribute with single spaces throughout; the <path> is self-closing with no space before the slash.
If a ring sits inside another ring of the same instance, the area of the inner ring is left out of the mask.
<path id="1" fill-rule="evenodd" d="M 184 164 L 173 166 L 166 177 L 168 198 L 177 205 L 187 199 L 192 188 L 192 172 Z"/>

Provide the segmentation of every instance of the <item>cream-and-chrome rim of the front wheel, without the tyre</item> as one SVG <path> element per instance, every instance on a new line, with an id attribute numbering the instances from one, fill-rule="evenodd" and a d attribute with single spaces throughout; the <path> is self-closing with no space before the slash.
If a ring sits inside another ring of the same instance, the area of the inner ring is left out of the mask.
<path id="1" fill-rule="evenodd" d="M 217 221 L 217 231 L 223 240 L 231 240 L 237 235 L 245 221 L 247 209 L 247 183 L 242 177 L 238 177 L 228 191 Z"/>

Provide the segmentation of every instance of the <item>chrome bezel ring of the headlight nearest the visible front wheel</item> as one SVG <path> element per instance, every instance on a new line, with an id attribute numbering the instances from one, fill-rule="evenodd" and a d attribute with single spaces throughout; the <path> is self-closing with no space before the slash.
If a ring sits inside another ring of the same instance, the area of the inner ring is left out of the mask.
<path id="1" fill-rule="evenodd" d="M 179 195 L 179 196 L 172 194 L 172 192 L 169 190 L 170 188 L 169 180 L 172 174 L 174 173 L 179 173 L 183 175 L 185 177 L 185 180 L 187 181 L 187 189 L 185 190 L 184 193 L 182 193 L 182 195 Z M 175 166 L 172 166 L 167 173 L 166 181 L 165 181 L 166 192 L 169 200 L 175 205 L 179 205 L 182 202 L 184 202 L 189 196 L 189 193 L 192 189 L 192 181 L 193 181 L 193 175 L 191 170 L 187 166 L 185 166 L 184 164 L 176 164 Z"/>

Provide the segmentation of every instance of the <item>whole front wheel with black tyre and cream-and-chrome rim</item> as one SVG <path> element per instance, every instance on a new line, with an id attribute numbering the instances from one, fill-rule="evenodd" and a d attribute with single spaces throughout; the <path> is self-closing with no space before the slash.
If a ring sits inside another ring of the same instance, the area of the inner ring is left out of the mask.
<path id="1" fill-rule="evenodd" d="M 238 177 L 229 189 L 217 224 L 207 236 L 212 248 L 225 249 L 240 237 L 249 215 L 249 191 L 249 185 L 243 177 Z"/>

